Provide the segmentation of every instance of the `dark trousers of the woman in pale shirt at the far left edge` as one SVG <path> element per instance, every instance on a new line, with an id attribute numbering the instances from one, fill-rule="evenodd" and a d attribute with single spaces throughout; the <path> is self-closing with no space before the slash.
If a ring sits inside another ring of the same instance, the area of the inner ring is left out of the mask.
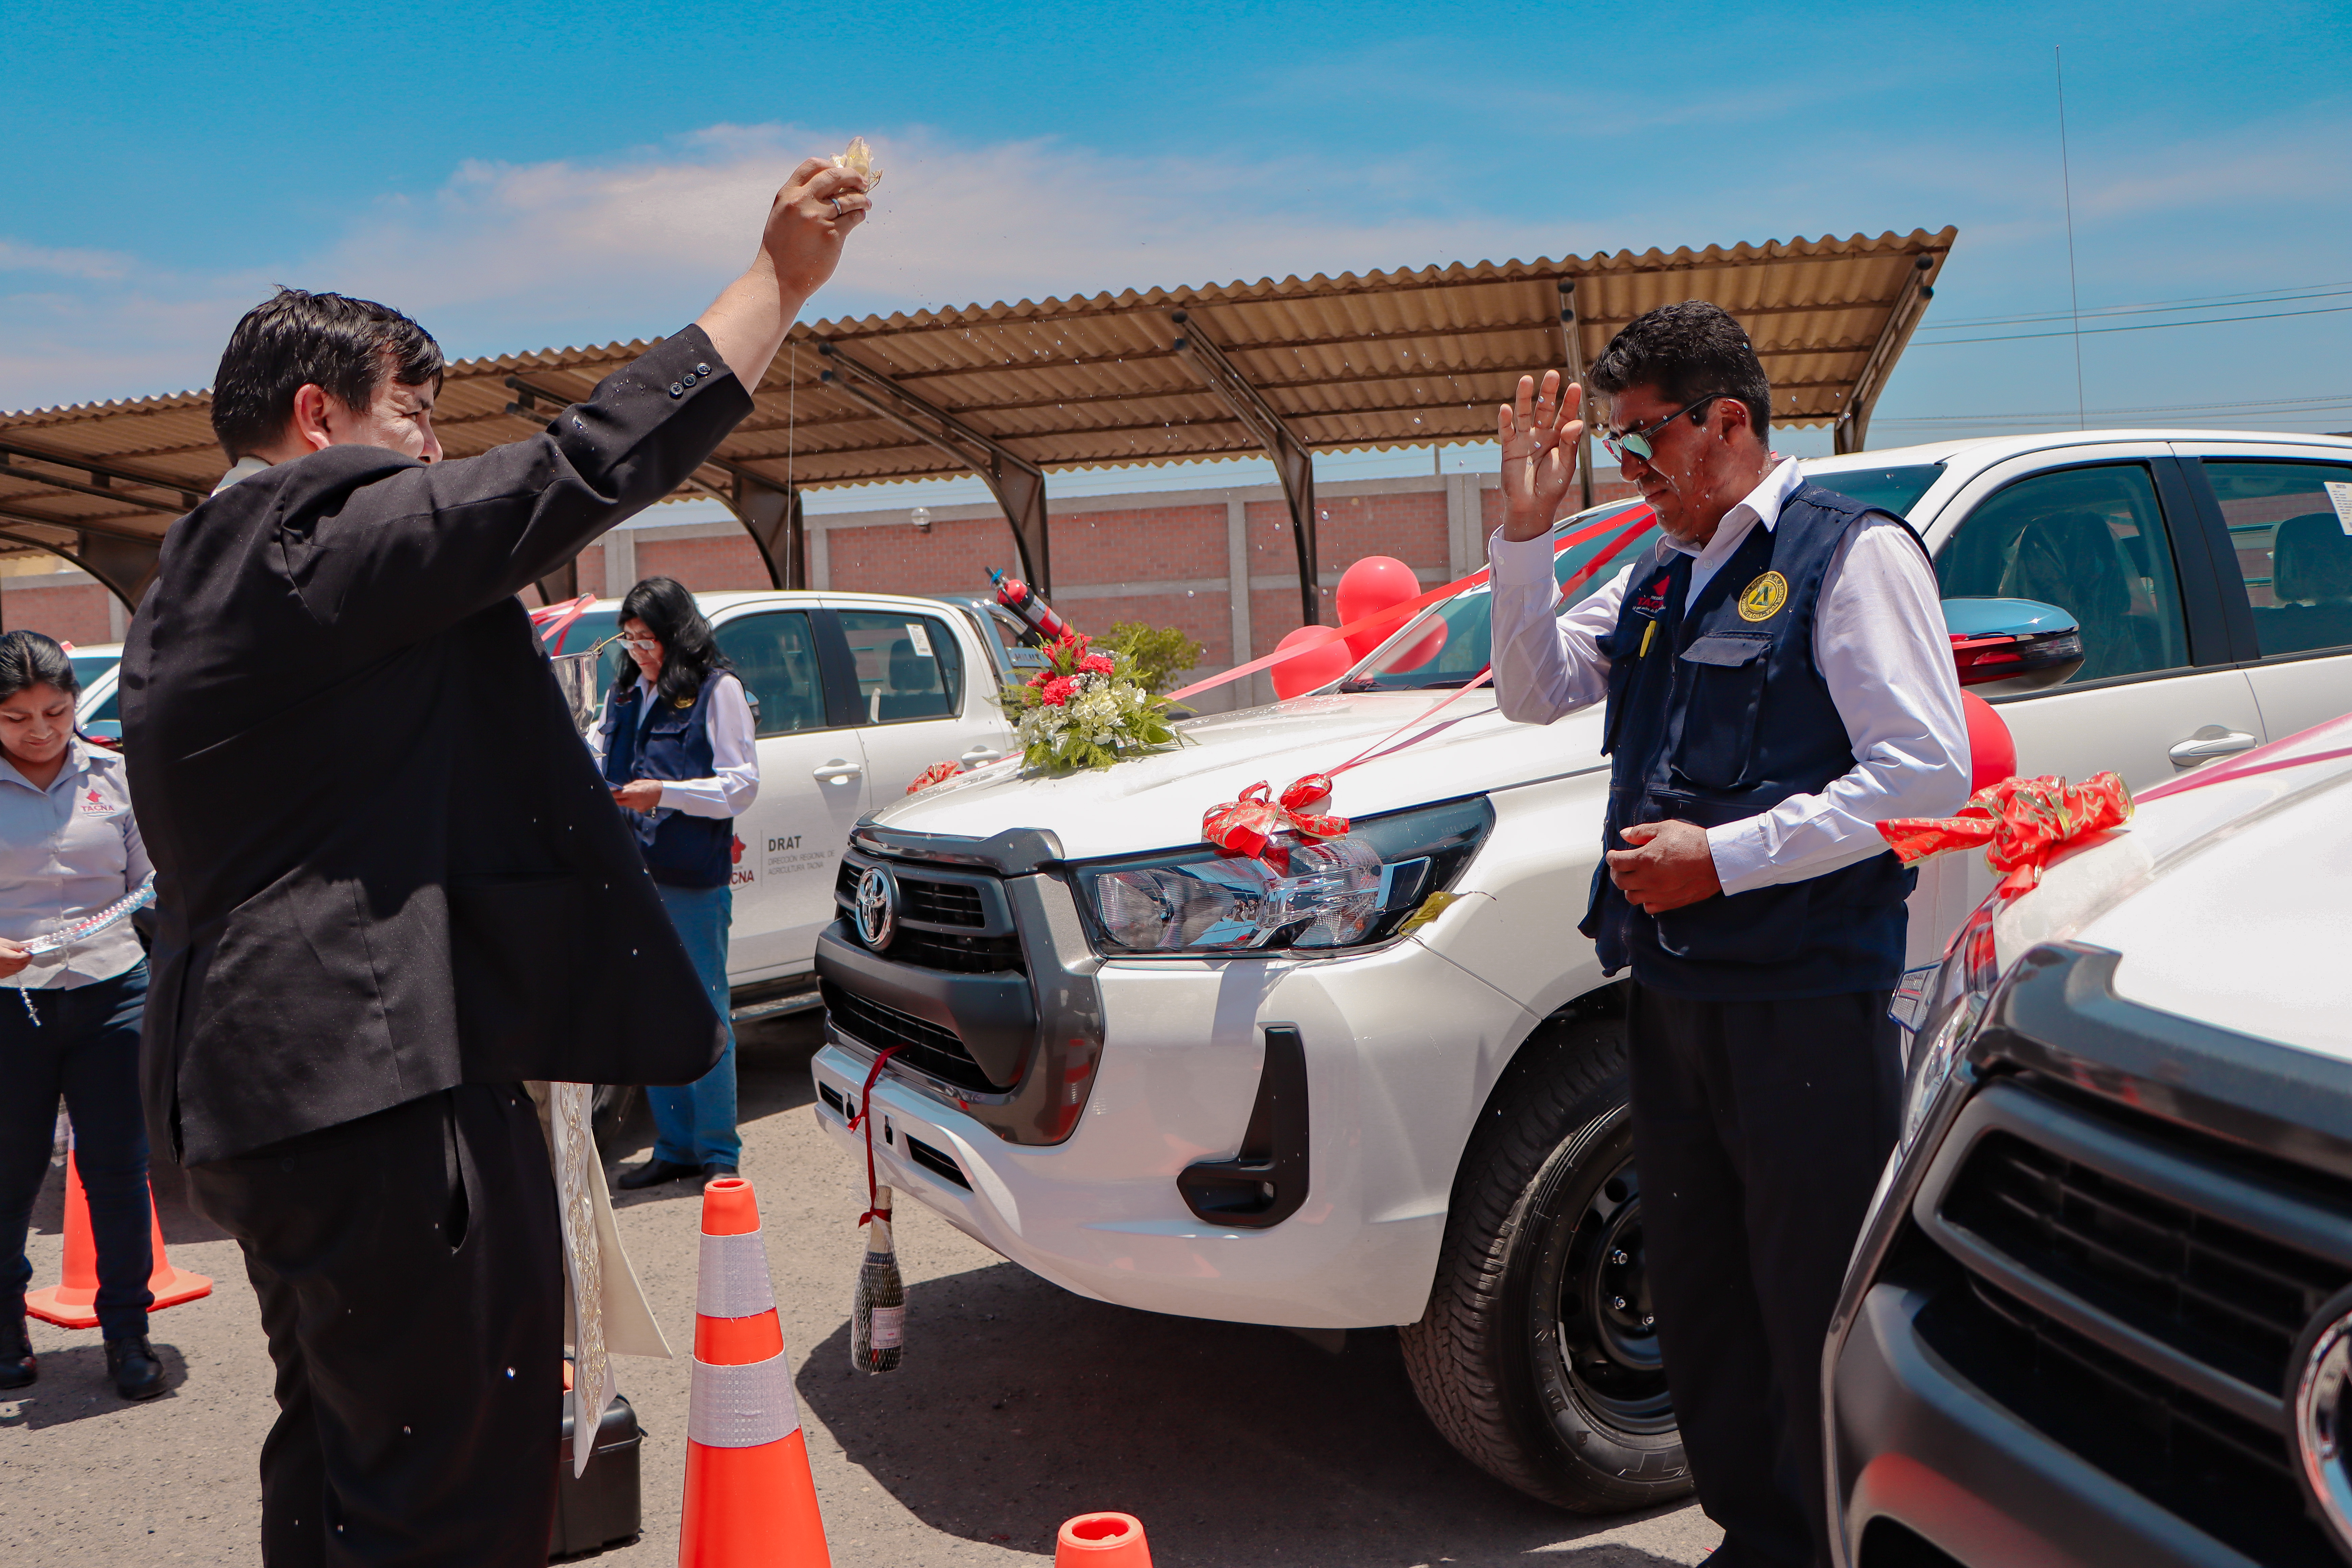
<path id="1" fill-rule="evenodd" d="M 73 1117 L 73 1166 L 89 1194 L 89 1239 L 99 1248 L 99 1328 L 108 1340 L 146 1333 L 155 1300 L 146 1119 L 139 1114 L 139 1016 L 146 1011 L 146 961 L 111 980 L 24 992 L 0 983 L 0 1321 L 24 1316 L 33 1265 L 24 1232 L 49 1173 L 56 1095 Z M 731 1079 L 729 1079 L 731 1084 Z M 729 1100 L 734 1091 L 729 1088 Z"/>

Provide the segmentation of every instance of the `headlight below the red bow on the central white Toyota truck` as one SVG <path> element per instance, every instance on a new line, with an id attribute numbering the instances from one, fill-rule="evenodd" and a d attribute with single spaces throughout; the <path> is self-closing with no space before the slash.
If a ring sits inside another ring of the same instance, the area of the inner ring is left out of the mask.
<path id="1" fill-rule="evenodd" d="M 1080 865 L 1080 905 L 1115 957 L 1374 943 L 1449 886 L 1494 827 L 1486 797 L 1357 818 L 1343 839 L 1261 858 L 1197 849 Z"/>

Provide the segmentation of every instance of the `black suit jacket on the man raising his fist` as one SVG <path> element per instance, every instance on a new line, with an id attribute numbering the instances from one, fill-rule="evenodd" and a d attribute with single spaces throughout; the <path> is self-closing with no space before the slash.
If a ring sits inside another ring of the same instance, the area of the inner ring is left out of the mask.
<path id="1" fill-rule="evenodd" d="M 750 407 L 696 327 L 532 440 L 329 447 L 172 524 L 122 654 L 155 1147 L 710 1070 L 717 1018 L 515 595 Z"/>

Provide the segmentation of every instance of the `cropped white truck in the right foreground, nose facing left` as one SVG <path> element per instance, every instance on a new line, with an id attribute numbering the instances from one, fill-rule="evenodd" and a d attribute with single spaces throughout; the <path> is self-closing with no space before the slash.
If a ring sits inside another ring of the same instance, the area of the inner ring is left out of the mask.
<path id="1" fill-rule="evenodd" d="M 1980 907 L 1828 1349 L 1837 1552 L 2352 1556 L 2352 719 Z"/>

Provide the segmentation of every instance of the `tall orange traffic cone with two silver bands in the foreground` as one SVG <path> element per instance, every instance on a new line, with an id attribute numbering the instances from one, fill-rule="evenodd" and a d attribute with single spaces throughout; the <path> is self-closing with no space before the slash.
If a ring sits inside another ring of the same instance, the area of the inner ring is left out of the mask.
<path id="1" fill-rule="evenodd" d="M 833 1568 L 750 1182 L 703 1187 L 680 1568 Z"/>

